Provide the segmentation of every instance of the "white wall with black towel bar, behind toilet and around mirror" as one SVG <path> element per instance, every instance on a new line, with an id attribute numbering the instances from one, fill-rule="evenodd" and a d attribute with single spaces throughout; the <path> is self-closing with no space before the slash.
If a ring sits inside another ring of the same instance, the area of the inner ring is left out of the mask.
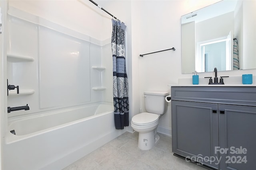
<path id="1" fill-rule="evenodd" d="M 148 90 L 169 91 L 168 84 L 178 84 L 180 78 L 191 78 L 192 74 L 181 73 L 181 23 L 180 17 L 217 2 L 217 0 L 150 0 L 132 1 L 132 59 L 135 67 L 132 69 L 132 88 L 138 88 L 139 93 L 133 93 L 132 98 L 140 98 L 133 107 L 144 109 L 143 92 Z M 136 10 L 135 10 L 136 9 Z M 128 25 L 129 26 L 129 25 Z M 175 47 L 176 51 L 164 51 L 139 57 L 140 54 L 150 53 Z M 251 54 L 253 55 L 253 54 Z M 137 62 L 139 70 L 137 70 Z M 256 69 L 218 72 L 218 76 L 242 76 L 256 74 Z M 214 72 L 199 73 L 199 77 L 214 76 Z M 206 80 L 207 82 L 208 80 Z M 136 91 L 137 92 L 137 91 Z M 170 103 L 167 113 L 160 119 L 159 126 L 171 129 Z M 138 109 L 133 110 L 138 111 Z M 139 112 L 133 112 L 135 115 Z M 162 129 L 159 129 L 162 130 Z M 169 131 L 170 132 L 170 131 Z"/>

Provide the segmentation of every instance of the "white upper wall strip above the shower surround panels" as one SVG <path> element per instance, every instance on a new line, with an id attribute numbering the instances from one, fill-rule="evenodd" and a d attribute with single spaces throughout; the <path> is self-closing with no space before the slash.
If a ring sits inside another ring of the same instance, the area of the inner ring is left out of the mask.
<path id="1" fill-rule="evenodd" d="M 106 33 L 108 29 L 102 29 L 105 18 L 102 17 L 99 9 L 89 1 L 9 0 L 9 5 L 80 33 L 90 35 L 95 39 L 105 40 L 109 38 Z"/>

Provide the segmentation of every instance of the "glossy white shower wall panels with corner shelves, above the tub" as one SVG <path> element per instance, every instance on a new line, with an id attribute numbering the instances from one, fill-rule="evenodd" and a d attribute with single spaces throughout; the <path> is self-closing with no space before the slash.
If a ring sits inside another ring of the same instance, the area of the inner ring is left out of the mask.
<path id="1" fill-rule="evenodd" d="M 12 6 L 7 18 L 7 78 L 21 92 L 10 91 L 8 106 L 30 106 L 8 117 L 112 102 L 110 38 L 94 39 Z"/>

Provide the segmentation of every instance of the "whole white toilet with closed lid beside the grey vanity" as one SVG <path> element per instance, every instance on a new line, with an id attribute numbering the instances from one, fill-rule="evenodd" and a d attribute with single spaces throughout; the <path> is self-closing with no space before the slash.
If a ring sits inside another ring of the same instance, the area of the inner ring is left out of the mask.
<path id="1" fill-rule="evenodd" d="M 144 103 L 147 112 L 134 115 L 131 121 L 132 129 L 139 133 L 139 149 L 149 150 L 158 143 L 160 137 L 156 134 L 156 128 L 160 117 L 167 110 L 168 103 L 165 97 L 168 95 L 169 92 L 144 92 Z"/>

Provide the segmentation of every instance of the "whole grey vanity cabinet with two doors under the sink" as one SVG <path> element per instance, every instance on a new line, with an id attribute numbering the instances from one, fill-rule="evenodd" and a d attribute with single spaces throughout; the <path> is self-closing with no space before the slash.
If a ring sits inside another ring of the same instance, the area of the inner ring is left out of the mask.
<path id="1" fill-rule="evenodd" d="M 256 169 L 256 87 L 172 86 L 174 155 L 219 170 Z"/>

